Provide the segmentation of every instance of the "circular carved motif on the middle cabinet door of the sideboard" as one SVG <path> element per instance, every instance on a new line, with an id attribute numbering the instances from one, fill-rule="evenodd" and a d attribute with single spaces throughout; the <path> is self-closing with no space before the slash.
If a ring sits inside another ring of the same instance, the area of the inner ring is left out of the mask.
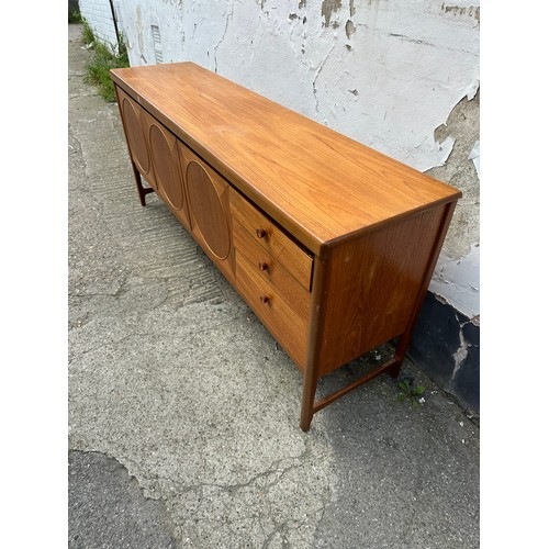
<path id="1" fill-rule="evenodd" d="M 183 188 L 173 149 L 163 130 L 156 124 L 150 126 L 148 137 L 157 183 L 164 189 L 171 205 L 176 210 L 181 210 L 183 208 Z"/>

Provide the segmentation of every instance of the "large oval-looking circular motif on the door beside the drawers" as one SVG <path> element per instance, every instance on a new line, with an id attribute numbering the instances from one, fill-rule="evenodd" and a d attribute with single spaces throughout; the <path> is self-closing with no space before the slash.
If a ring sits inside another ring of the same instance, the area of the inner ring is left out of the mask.
<path id="1" fill-rule="evenodd" d="M 212 179 L 197 161 L 187 167 L 187 190 L 189 208 L 206 246 L 216 257 L 225 259 L 231 249 L 225 210 Z"/>

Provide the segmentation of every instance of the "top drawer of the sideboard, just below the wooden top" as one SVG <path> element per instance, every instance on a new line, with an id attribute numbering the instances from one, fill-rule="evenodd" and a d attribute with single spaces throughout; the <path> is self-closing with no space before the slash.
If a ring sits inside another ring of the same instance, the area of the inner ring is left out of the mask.
<path id="1" fill-rule="evenodd" d="M 260 244 L 273 260 L 283 265 L 295 280 L 305 289 L 311 287 L 313 258 L 260 210 L 243 198 L 231 192 L 231 215 L 248 237 Z"/>

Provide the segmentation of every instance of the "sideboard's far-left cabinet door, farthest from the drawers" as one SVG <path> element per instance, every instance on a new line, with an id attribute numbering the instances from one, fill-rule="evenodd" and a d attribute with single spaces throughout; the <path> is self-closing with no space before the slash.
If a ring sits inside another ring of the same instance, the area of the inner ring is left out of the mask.
<path id="1" fill-rule="evenodd" d="M 116 94 L 119 97 L 120 114 L 124 124 L 130 156 L 142 176 L 156 190 L 157 186 L 144 127 L 145 111 L 119 87 L 116 87 Z"/>

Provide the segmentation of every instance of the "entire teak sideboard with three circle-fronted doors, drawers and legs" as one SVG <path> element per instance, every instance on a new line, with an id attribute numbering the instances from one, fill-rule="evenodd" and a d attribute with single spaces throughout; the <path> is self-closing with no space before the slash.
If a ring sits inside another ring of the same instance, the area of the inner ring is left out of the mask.
<path id="1" fill-rule="evenodd" d="M 301 369 L 301 428 L 396 377 L 461 192 L 192 63 L 111 77 L 142 205 L 158 194 Z M 321 377 L 394 338 L 315 400 Z"/>

